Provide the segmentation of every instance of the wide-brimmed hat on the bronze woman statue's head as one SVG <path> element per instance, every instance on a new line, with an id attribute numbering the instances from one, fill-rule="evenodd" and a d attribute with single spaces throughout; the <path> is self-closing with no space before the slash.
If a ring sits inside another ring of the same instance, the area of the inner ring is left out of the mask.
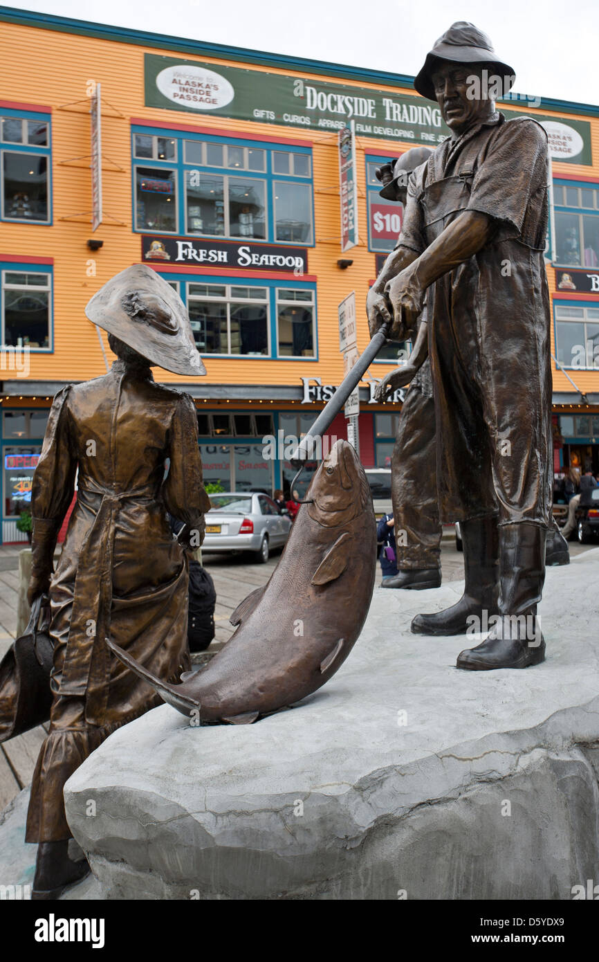
<path id="1" fill-rule="evenodd" d="M 174 374 L 206 374 L 185 304 L 151 267 L 121 270 L 93 295 L 86 314 L 152 364 Z"/>

